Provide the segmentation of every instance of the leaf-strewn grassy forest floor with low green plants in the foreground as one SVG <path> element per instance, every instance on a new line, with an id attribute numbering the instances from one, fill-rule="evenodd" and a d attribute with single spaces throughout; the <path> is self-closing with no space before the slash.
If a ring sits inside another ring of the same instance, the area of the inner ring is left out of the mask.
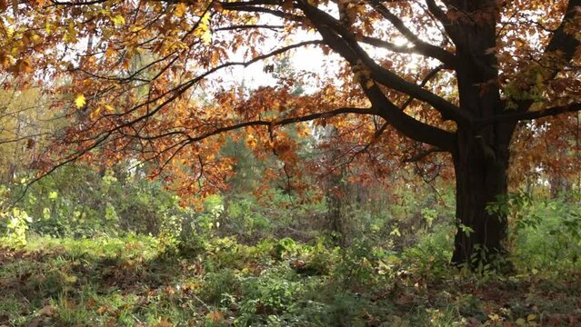
<path id="1" fill-rule="evenodd" d="M 0 326 L 581 326 L 581 272 L 474 274 L 290 239 L 31 240 L 0 250 Z"/>

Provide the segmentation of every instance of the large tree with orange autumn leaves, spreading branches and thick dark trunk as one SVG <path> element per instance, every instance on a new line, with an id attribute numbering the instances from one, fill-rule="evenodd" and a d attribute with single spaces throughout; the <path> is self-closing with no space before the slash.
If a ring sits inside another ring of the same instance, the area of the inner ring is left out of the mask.
<path id="1" fill-rule="evenodd" d="M 507 192 L 518 122 L 581 109 L 579 5 L 38 1 L 2 17 L 0 63 L 14 74 L 72 76 L 63 89 L 70 111 L 86 114 L 75 114 L 40 161 L 45 170 L 55 161 L 114 162 L 119 151 L 138 152 L 165 172 L 176 167 L 165 173 L 175 188 L 205 192 L 229 174 L 231 163 L 215 157 L 221 134 L 245 129 L 256 152 L 274 150 L 297 175 L 296 144 L 278 127 L 299 124 L 308 133 L 301 123 L 312 120 L 358 144 L 347 162 L 363 164 L 360 154 L 369 154 L 370 167 L 383 172 L 395 169 L 382 166 L 386 156 L 412 145 L 418 151 L 408 161 L 449 154 L 458 225 L 452 262 L 486 263 L 505 254 L 506 216 L 486 205 Z M 340 58 L 316 79 L 305 74 L 316 86 L 308 95 L 290 94 L 296 80 L 287 80 L 245 96 L 220 73 L 307 46 Z M 191 100 L 199 87 L 215 90 L 211 102 Z"/>

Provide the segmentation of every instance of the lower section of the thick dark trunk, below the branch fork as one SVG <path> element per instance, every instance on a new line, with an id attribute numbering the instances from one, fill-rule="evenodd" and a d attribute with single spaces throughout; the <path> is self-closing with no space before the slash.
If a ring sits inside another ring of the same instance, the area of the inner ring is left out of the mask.
<path id="1" fill-rule="evenodd" d="M 506 254 L 503 244 L 506 214 L 486 210 L 489 203 L 507 193 L 508 142 L 489 142 L 506 140 L 506 135 L 503 136 L 494 138 L 492 131 L 457 134 L 458 149 L 454 154 L 457 232 L 452 263 L 477 268 Z"/>

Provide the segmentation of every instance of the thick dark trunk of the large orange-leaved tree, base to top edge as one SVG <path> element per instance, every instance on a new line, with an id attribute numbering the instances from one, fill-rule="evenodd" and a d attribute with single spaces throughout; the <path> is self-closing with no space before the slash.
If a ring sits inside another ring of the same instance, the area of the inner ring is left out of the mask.
<path id="1" fill-rule="evenodd" d="M 460 108 L 476 119 L 505 113 L 498 81 L 498 62 L 489 49 L 496 47 L 498 15 L 495 1 L 465 2 L 466 12 L 490 19 L 475 24 L 459 21 L 456 29 L 456 77 Z M 489 203 L 506 195 L 508 146 L 516 123 L 458 125 L 456 149 L 456 239 L 452 263 L 472 268 L 505 256 L 506 214 L 490 213 Z"/>

